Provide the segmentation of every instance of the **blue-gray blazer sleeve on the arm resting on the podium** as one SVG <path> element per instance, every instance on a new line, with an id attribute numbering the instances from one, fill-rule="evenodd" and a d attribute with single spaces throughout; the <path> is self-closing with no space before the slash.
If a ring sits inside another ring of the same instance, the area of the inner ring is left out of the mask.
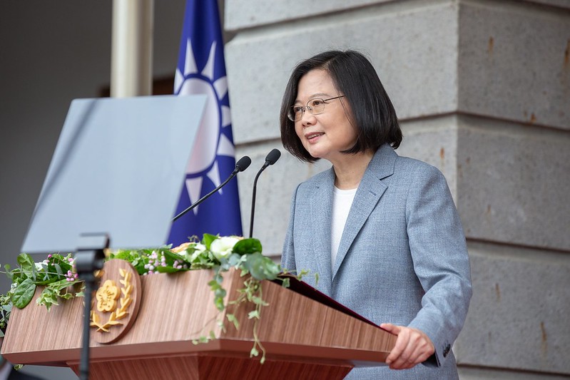
<path id="1" fill-rule="evenodd" d="M 434 344 L 434 357 L 424 364 L 441 366 L 463 327 L 472 296 L 469 255 L 442 173 L 422 165 L 412 178 L 406 202 L 407 234 L 414 271 L 425 293 L 409 327 L 427 334 Z"/>

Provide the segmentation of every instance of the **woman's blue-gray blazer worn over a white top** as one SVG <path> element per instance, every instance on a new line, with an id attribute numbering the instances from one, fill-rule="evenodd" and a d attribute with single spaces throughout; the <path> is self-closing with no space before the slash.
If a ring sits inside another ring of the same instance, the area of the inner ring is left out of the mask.
<path id="1" fill-rule="evenodd" d="M 472 289 L 465 237 L 444 176 L 383 145 L 360 181 L 331 265 L 334 183 L 331 168 L 297 186 L 282 266 L 318 273 L 318 284 L 310 275 L 304 280 L 376 324 L 422 330 L 436 350 L 413 369 L 353 369 L 348 377 L 457 379 L 451 346 Z"/>

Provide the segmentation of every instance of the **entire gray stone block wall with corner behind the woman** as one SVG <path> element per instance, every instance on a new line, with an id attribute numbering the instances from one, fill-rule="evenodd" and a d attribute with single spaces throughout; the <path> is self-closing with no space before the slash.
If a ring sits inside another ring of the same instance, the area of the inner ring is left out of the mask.
<path id="1" fill-rule="evenodd" d="M 370 56 L 402 122 L 400 155 L 437 166 L 462 217 L 474 296 L 462 379 L 570 376 L 570 2 L 226 0 L 237 155 L 281 148 L 295 63 Z M 279 255 L 292 190 L 327 163 L 285 154 L 258 183 L 255 236 Z M 255 170 L 240 174 L 249 225 Z"/>

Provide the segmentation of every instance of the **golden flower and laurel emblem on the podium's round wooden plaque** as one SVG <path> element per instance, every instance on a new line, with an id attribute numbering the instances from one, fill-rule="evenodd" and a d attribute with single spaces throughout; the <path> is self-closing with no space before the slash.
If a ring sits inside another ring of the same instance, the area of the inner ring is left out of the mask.
<path id="1" fill-rule="evenodd" d="M 119 319 L 123 319 L 128 315 L 128 306 L 133 302 L 131 298 L 131 293 L 133 292 L 133 285 L 131 285 L 131 273 L 127 272 L 125 269 L 118 269 L 119 274 L 123 279 L 119 282 L 123 285 L 121 287 L 121 299 L 119 304 L 117 304 L 116 299 L 118 298 L 119 292 L 115 285 L 115 282 L 108 279 L 97 290 L 97 310 L 99 312 L 111 312 L 108 320 L 105 323 L 101 322 L 99 314 L 94 310 L 91 311 L 91 327 L 97 327 L 98 332 L 109 332 L 109 329 L 116 324 L 123 324 L 118 322 Z"/>

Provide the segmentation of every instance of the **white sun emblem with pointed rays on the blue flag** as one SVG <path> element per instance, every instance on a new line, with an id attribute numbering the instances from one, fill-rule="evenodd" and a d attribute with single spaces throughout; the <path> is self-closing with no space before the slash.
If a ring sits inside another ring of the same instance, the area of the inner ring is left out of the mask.
<path id="1" fill-rule="evenodd" d="M 216 42 L 214 41 L 210 46 L 208 62 L 198 72 L 192 45 L 188 39 L 186 41 L 184 73 L 177 69 L 174 78 L 176 94 L 205 94 L 208 96 L 186 169 L 185 185 L 190 196 L 190 203 L 200 198 L 205 177 L 208 177 L 216 187 L 220 185 L 217 156 L 235 157 L 233 143 L 223 133 L 223 128 L 231 125 L 230 107 L 221 104 L 221 100 L 228 93 L 228 79 L 226 76 L 215 78 L 215 46 Z M 220 189 L 218 192 L 221 194 L 222 190 Z M 198 207 L 195 207 L 193 211 L 194 214 L 197 214 Z"/>

